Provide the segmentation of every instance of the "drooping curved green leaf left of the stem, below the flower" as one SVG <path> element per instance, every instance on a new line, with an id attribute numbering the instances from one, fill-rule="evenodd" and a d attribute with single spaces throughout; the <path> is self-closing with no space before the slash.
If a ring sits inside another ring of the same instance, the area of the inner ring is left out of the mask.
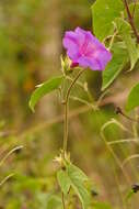
<path id="1" fill-rule="evenodd" d="M 62 81 L 62 77 L 55 77 L 38 86 L 38 88 L 32 94 L 30 99 L 30 108 L 34 111 L 35 105 L 42 97 L 57 89 Z"/>

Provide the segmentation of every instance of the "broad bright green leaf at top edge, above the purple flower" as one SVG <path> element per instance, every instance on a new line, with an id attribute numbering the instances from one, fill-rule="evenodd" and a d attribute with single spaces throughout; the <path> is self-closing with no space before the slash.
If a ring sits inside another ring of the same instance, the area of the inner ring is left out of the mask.
<path id="1" fill-rule="evenodd" d="M 113 21 L 124 10 L 121 0 L 97 0 L 92 6 L 93 32 L 100 41 L 114 33 Z"/>

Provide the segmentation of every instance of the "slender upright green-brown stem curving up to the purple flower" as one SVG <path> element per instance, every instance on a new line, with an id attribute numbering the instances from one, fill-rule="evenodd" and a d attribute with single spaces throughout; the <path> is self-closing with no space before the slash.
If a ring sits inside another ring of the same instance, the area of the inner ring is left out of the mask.
<path id="1" fill-rule="evenodd" d="M 63 128 L 63 157 L 66 156 L 66 152 L 67 152 L 67 143 L 68 143 L 68 106 L 69 106 L 69 97 L 70 97 L 70 92 L 73 88 L 73 86 L 76 85 L 76 81 L 78 80 L 78 78 L 83 74 L 85 69 L 82 69 L 78 73 L 78 75 L 74 77 L 74 79 L 72 80 L 70 87 L 67 90 L 67 95 L 63 101 L 65 105 L 65 128 Z"/>

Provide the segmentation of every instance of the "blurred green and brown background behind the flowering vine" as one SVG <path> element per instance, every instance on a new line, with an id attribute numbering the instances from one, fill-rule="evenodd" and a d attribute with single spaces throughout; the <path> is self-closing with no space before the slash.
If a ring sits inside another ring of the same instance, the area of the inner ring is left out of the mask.
<path id="1" fill-rule="evenodd" d="M 15 174 L 0 187 L 0 209 L 46 209 L 49 194 L 56 195 L 58 190 L 57 165 L 53 160 L 62 145 L 62 106 L 58 95 L 53 94 L 42 99 L 32 113 L 28 99 L 36 85 L 60 73 L 65 31 L 76 26 L 92 29 L 92 3 L 91 0 L 0 1 L 0 158 L 23 145 L 0 165 L 0 182 Z M 86 72 L 83 79 L 96 100 L 101 96 L 100 73 Z M 124 106 L 125 80 L 128 87 L 136 79 L 137 72 L 120 76 L 101 110 L 89 111 L 80 102 L 70 102 L 71 160 L 89 175 L 92 188 L 99 191 L 92 198 L 111 202 L 115 209 L 123 202 L 119 190 L 126 194 L 130 187 L 107 151 L 101 128 L 115 118 L 132 129 L 130 121 L 116 116 L 115 106 Z M 82 90 L 76 88 L 73 94 L 82 96 Z M 107 141 L 131 138 L 114 124 L 105 134 Z M 138 151 L 138 144 L 115 145 L 114 150 L 123 161 Z M 126 167 L 132 184 L 138 180 L 137 169 L 138 161 Z"/>

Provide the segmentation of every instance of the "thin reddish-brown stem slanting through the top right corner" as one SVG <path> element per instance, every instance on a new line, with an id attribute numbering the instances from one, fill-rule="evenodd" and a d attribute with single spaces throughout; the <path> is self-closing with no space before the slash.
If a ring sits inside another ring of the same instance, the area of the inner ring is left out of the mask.
<path id="1" fill-rule="evenodd" d="M 129 7 L 128 7 L 128 2 L 127 2 L 127 0 L 123 0 L 123 2 L 125 4 L 126 11 L 127 11 L 129 23 L 130 23 L 130 25 L 132 28 L 132 31 L 135 33 L 135 36 L 137 38 L 137 43 L 139 44 L 139 34 L 138 34 L 138 31 L 137 31 L 137 29 L 135 26 L 135 22 L 134 22 L 132 15 L 131 15 Z"/>

